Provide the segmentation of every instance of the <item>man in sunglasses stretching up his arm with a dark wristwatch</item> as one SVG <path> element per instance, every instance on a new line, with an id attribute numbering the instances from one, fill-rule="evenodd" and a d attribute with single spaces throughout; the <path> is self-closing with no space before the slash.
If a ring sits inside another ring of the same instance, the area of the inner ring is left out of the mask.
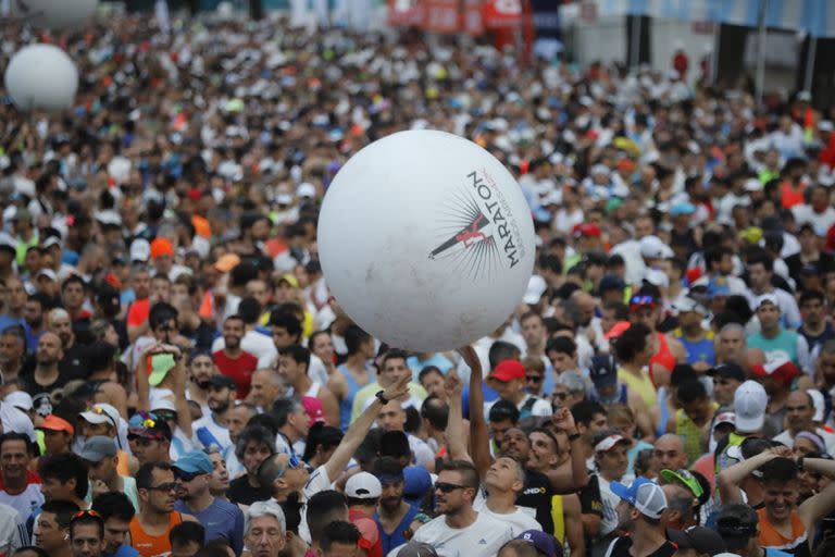
<path id="1" fill-rule="evenodd" d="M 303 462 L 294 456 L 282 453 L 273 455 L 261 462 L 258 469 L 258 481 L 263 486 L 270 486 L 273 499 L 284 503 L 294 494 L 298 494 L 301 507 L 301 523 L 299 536 L 308 544 L 311 543 L 310 529 L 307 521 L 307 503 L 316 493 L 329 490 L 332 483 L 339 478 L 369 433 L 379 409 L 388 403 L 402 397 L 408 392 L 411 373 L 390 385 L 385 391 L 379 391 L 374 403 L 366 408 L 348 428 L 339 446 L 327 461 L 308 472 Z M 496 547 L 498 550 L 498 547 Z"/>

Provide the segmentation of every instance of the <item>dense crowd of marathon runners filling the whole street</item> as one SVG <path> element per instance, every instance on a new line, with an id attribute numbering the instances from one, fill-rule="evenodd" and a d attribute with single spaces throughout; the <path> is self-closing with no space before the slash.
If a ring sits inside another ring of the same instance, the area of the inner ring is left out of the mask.
<path id="1" fill-rule="evenodd" d="M 7 26 L 0 66 L 35 41 L 80 87 L 0 104 L 0 554 L 835 546 L 835 113 L 805 92 L 211 14 Z M 518 310 L 453 352 L 363 331 L 317 259 L 340 166 L 409 128 L 488 149 L 535 223 Z"/>

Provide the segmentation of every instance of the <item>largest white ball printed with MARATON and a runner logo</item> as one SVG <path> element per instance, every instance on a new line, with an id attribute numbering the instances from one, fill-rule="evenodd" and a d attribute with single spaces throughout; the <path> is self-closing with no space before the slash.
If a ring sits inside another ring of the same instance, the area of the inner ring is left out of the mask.
<path id="1" fill-rule="evenodd" d="M 400 132 L 336 175 L 319 250 L 360 326 L 395 347 L 447 350 L 513 312 L 534 267 L 534 225 L 519 184 L 486 150 L 444 132 Z"/>

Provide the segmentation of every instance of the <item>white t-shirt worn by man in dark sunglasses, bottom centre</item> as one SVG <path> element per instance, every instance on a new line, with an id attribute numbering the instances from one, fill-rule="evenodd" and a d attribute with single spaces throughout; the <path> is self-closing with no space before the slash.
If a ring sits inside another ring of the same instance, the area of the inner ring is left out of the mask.
<path id="1" fill-rule="evenodd" d="M 440 557 L 494 557 L 506 542 L 513 539 L 511 527 L 484 512 L 468 528 L 450 528 L 447 517 L 428 521 L 412 540 L 432 545 Z M 397 555 L 400 548 L 389 553 Z"/>

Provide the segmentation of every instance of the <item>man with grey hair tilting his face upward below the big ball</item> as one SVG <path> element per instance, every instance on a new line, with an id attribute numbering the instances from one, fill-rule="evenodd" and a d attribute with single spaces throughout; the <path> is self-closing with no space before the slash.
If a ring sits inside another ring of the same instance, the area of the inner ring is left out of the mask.
<path id="1" fill-rule="evenodd" d="M 487 497 L 479 493 L 473 508 L 510 525 L 510 535 L 513 537 L 526 530 L 541 530 L 534 509 L 516 506 L 516 496 L 524 486 L 525 468 L 522 462 L 509 456 L 500 456 L 484 476 Z"/>

